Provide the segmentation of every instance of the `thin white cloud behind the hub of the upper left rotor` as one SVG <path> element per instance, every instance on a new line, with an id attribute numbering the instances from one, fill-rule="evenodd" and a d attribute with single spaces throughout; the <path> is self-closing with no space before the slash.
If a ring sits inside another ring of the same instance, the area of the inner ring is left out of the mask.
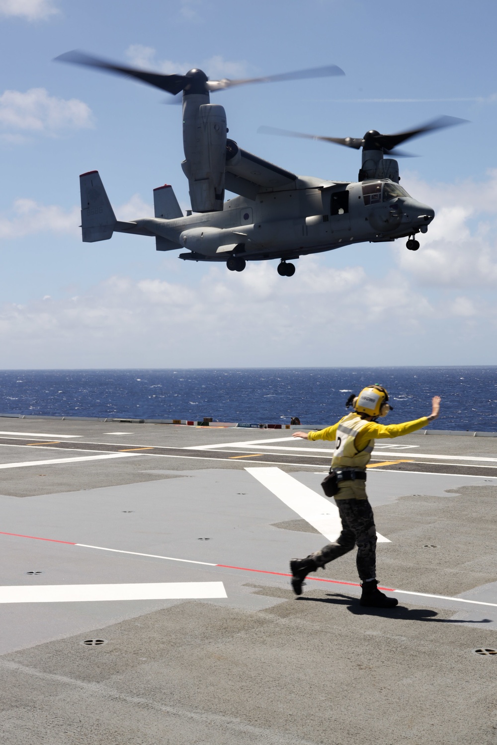
<path id="1" fill-rule="evenodd" d="M 185 75 L 194 67 L 200 67 L 212 80 L 222 77 L 246 77 L 248 63 L 244 60 L 233 62 L 225 60 L 221 54 L 214 54 L 206 60 L 190 60 L 189 62 L 173 62 L 172 60 L 158 60 L 156 49 L 142 44 L 132 44 L 127 48 L 126 56 L 136 67 L 157 70 L 165 75 Z"/>

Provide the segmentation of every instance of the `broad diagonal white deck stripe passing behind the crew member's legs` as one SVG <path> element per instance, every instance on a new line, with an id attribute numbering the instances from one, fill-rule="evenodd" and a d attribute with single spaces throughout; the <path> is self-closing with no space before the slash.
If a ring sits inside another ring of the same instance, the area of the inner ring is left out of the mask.
<path id="1" fill-rule="evenodd" d="M 342 523 L 335 504 L 279 468 L 245 470 L 330 542 L 336 541 L 341 533 Z M 376 533 L 376 536 L 379 543 L 390 543 L 380 533 Z"/>

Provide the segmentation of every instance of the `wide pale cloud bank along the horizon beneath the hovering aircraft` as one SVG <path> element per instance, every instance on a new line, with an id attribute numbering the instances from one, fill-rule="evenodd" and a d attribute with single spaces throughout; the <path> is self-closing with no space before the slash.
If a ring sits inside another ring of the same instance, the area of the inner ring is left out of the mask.
<path id="1" fill-rule="evenodd" d="M 160 277 L 113 276 L 63 299 L 40 288 L 37 301 L 3 305 L 4 367 L 497 363 L 495 302 L 428 299 L 398 270 L 377 278 L 320 256 L 291 279 L 275 262 L 210 264 L 200 278 L 198 268 L 171 253 Z"/>

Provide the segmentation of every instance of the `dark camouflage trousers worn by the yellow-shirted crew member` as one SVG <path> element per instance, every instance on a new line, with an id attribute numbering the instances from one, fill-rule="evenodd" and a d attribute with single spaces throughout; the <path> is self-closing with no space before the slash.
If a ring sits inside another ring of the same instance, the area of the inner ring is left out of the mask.
<path id="1" fill-rule="evenodd" d="M 335 543 L 329 543 L 311 557 L 324 566 L 333 559 L 344 556 L 357 545 L 357 571 L 359 577 L 370 580 L 376 577 L 376 527 L 373 510 L 367 499 L 337 499 L 342 521 L 342 532 Z"/>

